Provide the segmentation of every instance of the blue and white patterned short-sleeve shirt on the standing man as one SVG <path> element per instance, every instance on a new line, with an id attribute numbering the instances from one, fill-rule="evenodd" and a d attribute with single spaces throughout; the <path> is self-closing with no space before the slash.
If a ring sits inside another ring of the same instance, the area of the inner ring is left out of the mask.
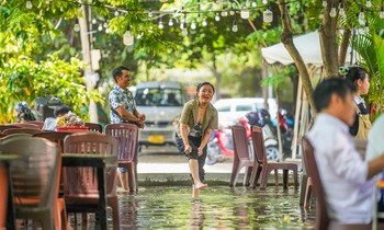
<path id="1" fill-rule="evenodd" d="M 136 103 L 129 90 L 124 90 L 116 84 L 110 92 L 110 114 L 112 124 L 127 123 L 127 120 L 117 114 L 116 108 L 118 106 L 123 106 L 127 112 L 133 114 L 136 108 Z"/>

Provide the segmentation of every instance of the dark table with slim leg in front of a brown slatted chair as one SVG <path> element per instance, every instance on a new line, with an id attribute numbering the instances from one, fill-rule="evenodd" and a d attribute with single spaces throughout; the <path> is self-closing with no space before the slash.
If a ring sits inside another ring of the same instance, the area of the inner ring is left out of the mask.
<path id="1" fill-rule="evenodd" d="M 106 225 L 106 187 L 105 187 L 105 168 L 116 166 L 116 156 L 106 154 L 82 154 L 82 153 L 63 153 L 63 166 L 92 166 L 97 168 L 99 185 L 99 209 L 101 229 L 108 229 Z"/>

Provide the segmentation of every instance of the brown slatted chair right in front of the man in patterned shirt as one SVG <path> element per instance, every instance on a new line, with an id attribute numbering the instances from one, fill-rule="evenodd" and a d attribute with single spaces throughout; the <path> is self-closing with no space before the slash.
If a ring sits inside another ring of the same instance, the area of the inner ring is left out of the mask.
<path id="1" fill-rule="evenodd" d="M 126 168 L 128 173 L 129 192 L 138 191 L 137 175 L 137 142 L 138 128 L 133 124 L 109 124 L 105 126 L 105 134 L 118 137 L 117 163 L 121 168 Z"/>

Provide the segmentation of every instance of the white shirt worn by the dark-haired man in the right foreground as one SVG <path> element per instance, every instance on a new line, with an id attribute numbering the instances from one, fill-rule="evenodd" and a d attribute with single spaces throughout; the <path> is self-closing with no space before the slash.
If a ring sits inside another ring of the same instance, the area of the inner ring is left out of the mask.
<path id="1" fill-rule="evenodd" d="M 340 223 L 370 223 L 375 181 L 366 180 L 368 162 L 357 151 L 348 125 L 320 113 L 307 137 L 314 147 L 329 218 Z"/>

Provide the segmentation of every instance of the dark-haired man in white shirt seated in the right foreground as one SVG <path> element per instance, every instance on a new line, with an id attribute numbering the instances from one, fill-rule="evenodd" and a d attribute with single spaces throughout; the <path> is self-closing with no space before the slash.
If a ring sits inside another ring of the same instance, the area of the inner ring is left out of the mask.
<path id="1" fill-rule="evenodd" d="M 359 154 L 349 126 L 354 122 L 355 87 L 341 78 L 329 78 L 314 92 L 317 112 L 307 137 L 324 187 L 327 212 L 340 223 L 370 223 L 373 179 L 384 169 L 384 154 L 365 161 Z"/>

